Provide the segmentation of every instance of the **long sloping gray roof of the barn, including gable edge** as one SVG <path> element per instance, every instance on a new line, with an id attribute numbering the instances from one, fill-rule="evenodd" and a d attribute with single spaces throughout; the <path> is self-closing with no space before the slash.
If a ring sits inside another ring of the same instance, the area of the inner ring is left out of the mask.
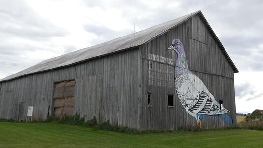
<path id="1" fill-rule="evenodd" d="M 234 72 L 238 72 L 234 63 L 232 62 L 232 60 L 226 53 L 225 48 L 223 47 L 223 45 L 221 44 L 221 42 L 219 41 L 219 39 L 216 37 L 215 33 L 213 32 L 212 28 L 210 27 L 210 25 L 204 18 L 202 12 L 197 11 L 197 12 L 190 13 L 188 15 L 179 17 L 177 19 L 150 27 L 148 29 L 145 29 L 145 30 L 142 30 L 142 31 L 139 31 L 139 32 L 127 35 L 127 36 L 119 37 L 119 38 L 116 38 L 116 39 L 113 39 L 113 40 L 110 40 L 110 41 L 107 41 L 107 42 L 104 42 L 104 43 L 101 43 L 95 46 L 80 49 L 80 50 L 70 52 L 70 53 L 55 57 L 55 58 L 44 60 L 23 71 L 7 76 L 1 79 L 0 82 L 15 79 L 15 78 L 22 77 L 25 75 L 30 75 L 30 74 L 48 71 L 52 69 L 57 69 L 57 68 L 65 67 L 65 66 L 70 66 L 76 63 L 80 63 L 80 62 L 92 59 L 92 58 L 112 54 L 112 53 L 115 53 L 115 52 L 118 52 L 124 49 L 131 49 L 133 47 L 137 47 L 139 45 L 142 45 L 148 42 L 152 38 L 157 37 L 158 35 L 161 35 L 167 32 L 169 29 L 183 23 L 184 21 L 188 20 L 189 18 L 191 18 L 192 16 L 196 14 L 200 14 L 202 16 L 202 19 L 204 20 L 206 26 L 210 29 L 210 32 L 212 33 L 212 35 L 214 35 L 222 51 L 225 53 L 225 56 L 227 57 L 229 63 L 233 67 Z"/>

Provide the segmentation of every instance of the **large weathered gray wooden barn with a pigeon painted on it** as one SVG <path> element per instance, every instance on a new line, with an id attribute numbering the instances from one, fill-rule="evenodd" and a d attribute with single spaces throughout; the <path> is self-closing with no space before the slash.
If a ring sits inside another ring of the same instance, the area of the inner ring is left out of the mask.
<path id="1" fill-rule="evenodd" d="M 170 49 L 170 50 L 169 50 Z M 0 80 L 0 118 L 80 113 L 145 129 L 236 124 L 238 70 L 201 11 Z"/>

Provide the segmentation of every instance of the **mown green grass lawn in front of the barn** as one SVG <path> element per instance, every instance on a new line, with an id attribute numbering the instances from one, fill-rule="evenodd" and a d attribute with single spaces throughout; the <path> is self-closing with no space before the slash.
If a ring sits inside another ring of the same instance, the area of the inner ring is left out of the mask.
<path id="1" fill-rule="evenodd" d="M 0 122 L 0 147 L 262 148 L 263 131 L 232 129 L 131 135 L 57 123 Z"/>

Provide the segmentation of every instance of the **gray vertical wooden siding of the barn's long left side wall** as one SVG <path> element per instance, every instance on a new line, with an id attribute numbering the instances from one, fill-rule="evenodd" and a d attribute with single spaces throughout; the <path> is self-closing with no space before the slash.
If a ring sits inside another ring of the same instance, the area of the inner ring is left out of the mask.
<path id="1" fill-rule="evenodd" d="M 34 118 L 53 114 L 54 82 L 75 80 L 74 113 L 96 116 L 133 128 L 140 126 L 141 57 L 139 49 L 90 60 L 74 66 L 2 82 L 0 118 L 25 120 L 28 106 Z"/>

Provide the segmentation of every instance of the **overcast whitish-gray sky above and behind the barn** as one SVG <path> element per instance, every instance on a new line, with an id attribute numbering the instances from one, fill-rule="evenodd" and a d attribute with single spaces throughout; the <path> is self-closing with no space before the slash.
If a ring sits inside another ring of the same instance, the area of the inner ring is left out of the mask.
<path id="1" fill-rule="evenodd" d="M 0 0 L 0 79 L 198 10 L 240 71 L 236 111 L 263 109 L 263 0 Z"/>

